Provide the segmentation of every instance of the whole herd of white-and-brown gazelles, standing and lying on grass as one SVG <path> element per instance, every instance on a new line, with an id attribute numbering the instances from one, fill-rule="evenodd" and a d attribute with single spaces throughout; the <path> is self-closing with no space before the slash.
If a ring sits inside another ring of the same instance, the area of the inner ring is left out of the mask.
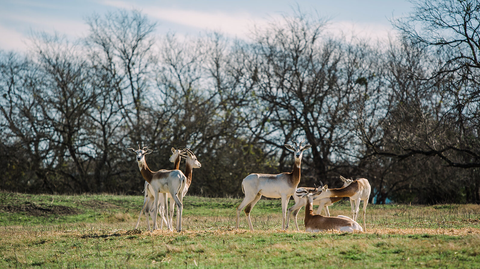
<path id="1" fill-rule="evenodd" d="M 292 140 L 293 141 L 293 140 Z M 363 227 L 365 226 L 365 210 L 370 197 L 371 187 L 367 179 L 360 178 L 357 180 L 347 179 L 340 176 L 344 182 L 341 188 L 329 189 L 327 185 L 321 184 L 318 188 L 312 187 L 298 187 L 300 183 L 300 164 L 303 151 L 312 147 L 312 145 L 301 144 L 305 139 L 299 143 L 293 141 L 295 146 L 285 144 L 285 147 L 294 152 L 293 171 L 289 173 L 281 173 L 276 175 L 271 174 L 250 174 L 242 181 L 241 187 L 245 194 L 245 198 L 237 207 L 236 229 L 239 228 L 240 211 L 244 209 L 245 216 L 253 231 L 252 221 L 250 219 L 250 212 L 253 206 L 262 197 L 280 198 L 282 204 L 282 229 L 288 229 L 290 214 L 293 212 L 295 226 L 298 231 L 297 214 L 300 209 L 305 206 L 305 230 L 307 232 L 318 232 L 324 230 L 340 230 L 340 231 L 363 231 L 360 224 L 357 222 L 359 213 L 360 201 L 363 200 Z M 172 156 L 170 162 L 174 163 L 174 170 L 161 169 L 157 172 L 152 172 L 146 162 L 145 155 L 153 152 L 148 149 L 145 151 L 140 149 L 127 149 L 129 152 L 135 153 L 137 156 L 138 167 L 140 173 L 145 179 L 144 188 L 144 205 L 140 211 L 137 224 L 140 223 L 142 213 L 147 219 L 147 227 L 150 228 L 149 218 L 152 218 L 152 230 L 158 229 L 156 224 L 156 216 L 160 212 L 162 222 L 167 225 L 168 230 L 173 231 L 172 218 L 174 211 L 174 204 L 177 207 L 177 231 L 181 231 L 181 216 L 182 216 L 182 200 L 192 183 L 193 168 L 200 168 L 202 165 L 198 162 L 195 154 L 190 149 L 180 147 L 178 149 L 171 148 Z M 181 158 L 186 159 L 186 170 L 183 174 L 180 168 Z M 161 195 L 160 195 L 161 194 Z M 290 196 L 295 199 L 295 205 L 287 209 L 288 200 Z M 352 218 L 339 215 L 337 217 L 330 217 L 328 206 L 339 201 L 343 197 L 350 198 L 350 206 Z M 170 198 L 170 212 L 168 212 L 168 198 Z M 317 214 L 313 214 L 313 204 L 319 205 Z M 326 216 L 320 215 L 322 209 Z M 288 215 L 286 215 L 288 211 Z"/>

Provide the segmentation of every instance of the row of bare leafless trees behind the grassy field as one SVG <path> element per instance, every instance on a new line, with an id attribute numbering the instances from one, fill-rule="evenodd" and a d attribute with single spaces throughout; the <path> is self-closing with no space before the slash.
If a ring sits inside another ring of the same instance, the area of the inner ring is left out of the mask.
<path id="1" fill-rule="evenodd" d="M 26 54 L 0 51 L 0 188 L 139 194 L 126 148 L 140 144 L 154 171 L 173 168 L 171 147 L 191 148 L 202 167 L 190 194 L 238 196 L 250 173 L 291 171 L 283 145 L 305 138 L 302 186 L 366 177 L 377 203 L 478 203 L 479 22 L 445 30 L 428 5 L 375 45 L 301 12 L 250 41 L 157 36 L 136 11 L 88 18 L 73 43 L 38 34 Z"/>

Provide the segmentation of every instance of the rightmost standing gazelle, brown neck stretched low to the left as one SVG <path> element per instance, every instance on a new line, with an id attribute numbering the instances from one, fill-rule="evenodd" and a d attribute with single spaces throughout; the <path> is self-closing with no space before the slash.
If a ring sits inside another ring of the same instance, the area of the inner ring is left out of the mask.
<path id="1" fill-rule="evenodd" d="M 344 177 L 342 177 L 344 178 Z M 344 178 L 347 180 L 346 178 Z M 329 197 L 349 197 L 350 206 L 352 210 L 352 219 L 357 221 L 360 200 L 363 200 L 363 227 L 365 231 L 367 227 L 365 226 L 365 211 L 368 204 L 368 199 L 370 198 L 370 183 L 366 178 L 359 178 L 353 180 L 347 187 L 343 188 L 328 188 L 328 185 L 320 186 L 319 191 L 321 192 L 317 199 L 329 198 Z"/>

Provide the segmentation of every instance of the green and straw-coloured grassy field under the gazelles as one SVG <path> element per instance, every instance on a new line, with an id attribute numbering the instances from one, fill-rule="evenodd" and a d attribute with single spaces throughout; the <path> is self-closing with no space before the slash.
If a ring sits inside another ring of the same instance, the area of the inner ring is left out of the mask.
<path id="1" fill-rule="evenodd" d="M 243 213 L 234 229 L 240 199 L 187 196 L 181 233 L 133 229 L 142 203 L 0 192 L 0 268 L 480 268 L 480 205 L 369 205 L 366 233 L 311 234 L 303 209 L 300 232 L 280 229 L 279 199 L 253 208 L 255 232 Z"/>

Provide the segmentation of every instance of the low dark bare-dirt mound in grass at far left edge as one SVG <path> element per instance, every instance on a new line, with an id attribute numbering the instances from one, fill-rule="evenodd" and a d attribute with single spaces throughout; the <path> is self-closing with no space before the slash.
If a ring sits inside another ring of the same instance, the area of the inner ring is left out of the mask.
<path id="1" fill-rule="evenodd" d="M 26 212 L 29 216 L 46 216 L 46 215 L 72 215 L 78 214 L 80 211 L 59 205 L 36 204 L 25 202 L 23 205 L 0 205 L 0 210 L 4 212 Z"/>

